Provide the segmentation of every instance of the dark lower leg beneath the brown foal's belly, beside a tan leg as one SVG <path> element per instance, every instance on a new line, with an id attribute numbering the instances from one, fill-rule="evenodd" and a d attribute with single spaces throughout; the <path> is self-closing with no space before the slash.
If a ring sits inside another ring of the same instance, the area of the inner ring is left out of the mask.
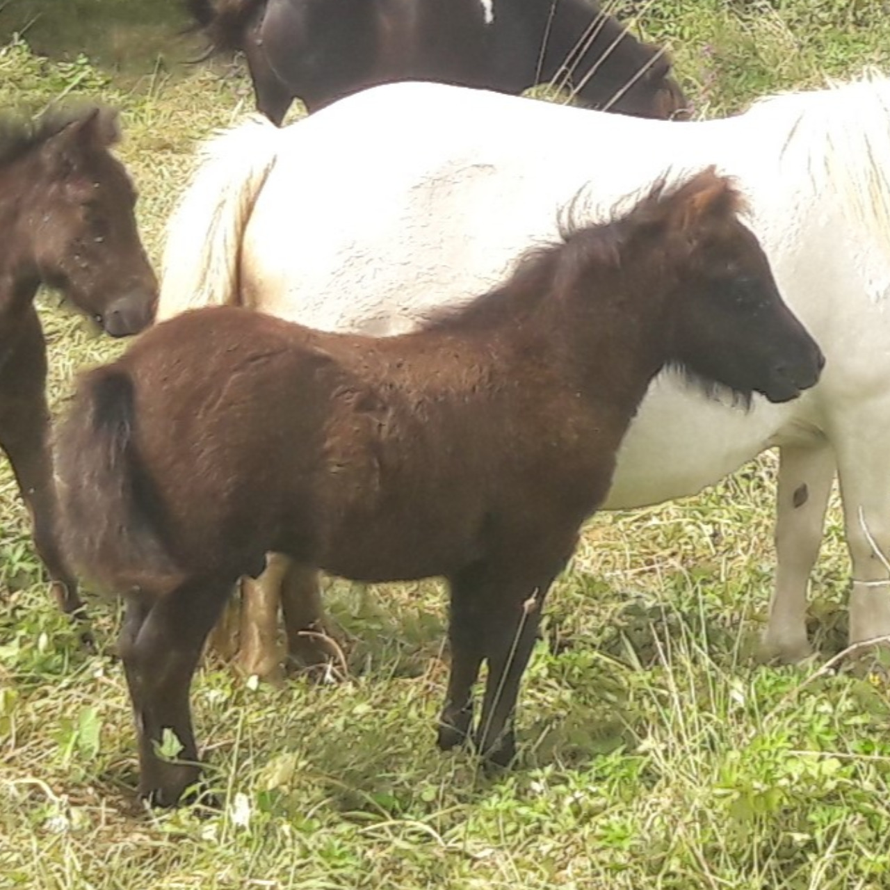
<path id="1" fill-rule="evenodd" d="M 281 582 L 281 611 L 287 631 L 287 658 L 299 667 L 320 667 L 336 659 L 336 644 L 328 634 L 321 604 L 320 573 L 312 566 L 285 561 Z"/>

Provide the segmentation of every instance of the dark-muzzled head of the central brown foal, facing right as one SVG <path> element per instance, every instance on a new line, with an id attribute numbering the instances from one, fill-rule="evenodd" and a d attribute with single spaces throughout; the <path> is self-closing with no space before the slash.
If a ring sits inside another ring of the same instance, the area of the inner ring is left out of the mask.
<path id="1" fill-rule="evenodd" d="M 819 380 L 819 346 L 784 303 L 759 241 L 740 221 L 744 202 L 714 168 L 673 193 L 663 184 L 628 219 L 637 237 L 663 239 L 659 268 L 675 285 L 670 363 L 748 400 L 789 401 Z"/>

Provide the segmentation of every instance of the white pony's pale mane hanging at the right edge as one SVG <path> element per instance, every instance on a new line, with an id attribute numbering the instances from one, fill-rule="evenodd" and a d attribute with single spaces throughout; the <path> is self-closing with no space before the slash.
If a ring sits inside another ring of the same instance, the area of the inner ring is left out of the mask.
<path id="1" fill-rule="evenodd" d="M 784 119 L 785 132 L 773 130 L 781 135 L 781 174 L 805 174 L 817 193 L 836 193 L 848 221 L 890 251 L 890 78 L 869 69 L 824 90 L 779 93 L 756 101 L 746 117 Z"/>

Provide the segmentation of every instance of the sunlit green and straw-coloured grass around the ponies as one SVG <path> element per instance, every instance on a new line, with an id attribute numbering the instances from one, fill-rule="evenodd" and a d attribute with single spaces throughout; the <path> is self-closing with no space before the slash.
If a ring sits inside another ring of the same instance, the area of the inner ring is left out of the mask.
<path id="1" fill-rule="evenodd" d="M 180 52 L 171 5 L 103 4 L 117 27 L 97 30 L 96 3 L 72 0 L 52 28 L 43 4 L 26 36 L 51 59 L 12 40 L 27 4 L 0 12 L 0 103 L 120 107 L 120 153 L 158 260 L 194 142 L 249 107 L 248 85 L 226 65 L 158 63 L 147 34 L 163 36 L 165 58 Z M 876 2 L 625 5 L 647 36 L 672 41 L 700 114 L 881 64 L 890 46 Z M 120 70 L 115 52 L 130 45 L 142 54 Z M 52 295 L 42 317 L 58 406 L 75 368 L 123 347 Z M 772 584 L 774 474 L 766 455 L 700 498 L 590 523 L 524 685 L 521 769 L 490 778 L 433 748 L 441 587 L 332 582 L 349 679 L 273 689 L 208 662 L 195 710 L 223 808 L 149 813 L 134 802 L 110 655 L 117 605 L 91 603 L 104 651 L 82 651 L 0 466 L 0 888 L 890 886 L 885 681 L 751 658 Z M 847 573 L 835 505 L 813 583 L 823 659 L 844 638 Z"/>

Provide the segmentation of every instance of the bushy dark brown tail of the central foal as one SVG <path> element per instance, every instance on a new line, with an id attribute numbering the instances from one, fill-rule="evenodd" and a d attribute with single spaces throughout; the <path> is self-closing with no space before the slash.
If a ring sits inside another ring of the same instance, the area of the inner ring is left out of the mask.
<path id="1" fill-rule="evenodd" d="M 56 434 L 60 541 L 69 563 L 109 593 L 163 595 L 184 578 L 163 507 L 134 441 L 134 382 L 116 365 L 81 378 Z"/>

